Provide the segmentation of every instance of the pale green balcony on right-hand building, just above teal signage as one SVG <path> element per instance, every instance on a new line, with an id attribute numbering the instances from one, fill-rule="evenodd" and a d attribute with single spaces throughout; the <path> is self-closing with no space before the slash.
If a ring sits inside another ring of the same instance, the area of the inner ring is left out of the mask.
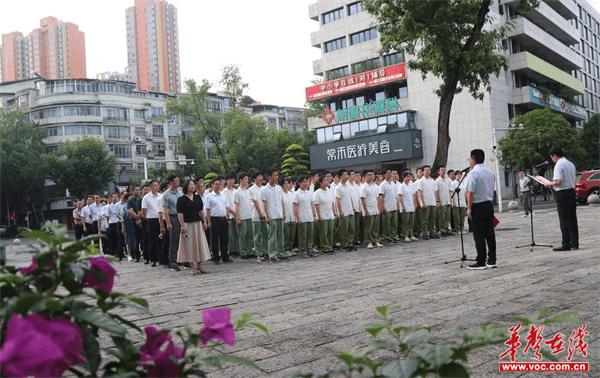
<path id="1" fill-rule="evenodd" d="M 508 66 L 511 71 L 527 70 L 528 76 L 540 84 L 550 80 L 581 94 L 585 93 L 585 86 L 581 80 L 529 52 L 509 55 Z"/>

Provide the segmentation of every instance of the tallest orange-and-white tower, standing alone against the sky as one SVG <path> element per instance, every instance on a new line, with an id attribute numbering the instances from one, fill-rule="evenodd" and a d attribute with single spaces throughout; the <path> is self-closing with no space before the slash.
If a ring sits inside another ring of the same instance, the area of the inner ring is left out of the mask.
<path id="1" fill-rule="evenodd" d="M 131 81 L 141 90 L 179 93 L 177 8 L 164 0 L 135 0 L 125 14 Z"/>

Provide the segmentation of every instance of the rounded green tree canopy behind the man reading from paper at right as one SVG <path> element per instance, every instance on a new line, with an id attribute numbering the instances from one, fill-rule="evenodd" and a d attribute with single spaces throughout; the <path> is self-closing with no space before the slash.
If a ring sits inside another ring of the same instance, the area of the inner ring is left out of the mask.
<path id="1" fill-rule="evenodd" d="M 548 160 L 553 146 L 560 146 L 573 161 L 583 155 L 575 128 L 558 113 L 536 109 L 516 117 L 513 123 L 523 126 L 510 130 L 499 142 L 504 165 L 531 168 Z"/>

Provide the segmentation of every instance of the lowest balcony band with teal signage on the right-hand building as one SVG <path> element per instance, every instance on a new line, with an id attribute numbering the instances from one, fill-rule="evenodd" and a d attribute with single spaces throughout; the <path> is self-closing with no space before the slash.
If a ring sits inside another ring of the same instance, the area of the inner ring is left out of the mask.
<path id="1" fill-rule="evenodd" d="M 531 86 L 513 88 L 513 103 L 523 105 L 526 109 L 548 108 L 572 120 L 578 121 L 587 118 L 584 107 L 569 103 L 558 96 L 544 93 L 540 89 Z"/>

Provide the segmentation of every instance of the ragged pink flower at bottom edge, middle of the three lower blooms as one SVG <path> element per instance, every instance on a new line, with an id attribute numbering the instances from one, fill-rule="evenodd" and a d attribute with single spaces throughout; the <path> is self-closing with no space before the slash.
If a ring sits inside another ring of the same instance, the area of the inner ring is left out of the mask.
<path id="1" fill-rule="evenodd" d="M 168 331 L 159 331 L 154 326 L 144 328 L 146 343 L 140 348 L 140 361 L 150 377 L 178 377 L 181 367 L 177 363 L 183 358 L 183 349 L 175 345 Z"/>

